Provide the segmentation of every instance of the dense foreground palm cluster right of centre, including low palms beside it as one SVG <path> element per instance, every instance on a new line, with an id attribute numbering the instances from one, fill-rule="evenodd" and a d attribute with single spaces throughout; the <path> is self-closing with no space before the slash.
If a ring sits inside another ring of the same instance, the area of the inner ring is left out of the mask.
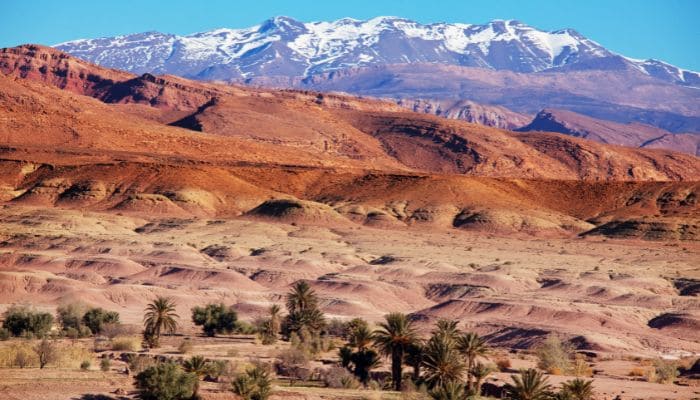
<path id="1" fill-rule="evenodd" d="M 402 389 L 403 368 L 407 365 L 413 368 L 414 383 L 426 385 L 435 400 L 479 396 L 483 382 L 496 370 L 483 362 L 491 350 L 486 341 L 474 332 L 460 331 L 456 321 L 438 320 L 427 340 L 418 337 L 412 320 L 401 313 L 388 314 L 375 331 L 362 320 L 353 320 L 350 325 L 349 346 L 339 351 L 341 364 L 354 364 L 355 375 L 363 382 L 370 369 L 379 365 L 378 358 L 372 357 L 376 355 L 373 348 L 391 360 L 395 390 Z M 534 369 L 522 370 L 511 379 L 513 382 L 504 387 L 506 398 L 511 400 L 590 400 L 593 396 L 593 381 L 577 378 L 555 391 Z"/>

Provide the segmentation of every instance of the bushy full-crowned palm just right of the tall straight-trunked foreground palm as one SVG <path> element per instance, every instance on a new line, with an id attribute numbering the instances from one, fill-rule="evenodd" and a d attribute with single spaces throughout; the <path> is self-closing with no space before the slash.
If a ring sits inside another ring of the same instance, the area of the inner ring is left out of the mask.
<path id="1" fill-rule="evenodd" d="M 465 365 L 455 347 L 455 342 L 449 337 L 433 335 L 423 352 L 424 378 L 428 386 L 442 387 L 462 379 Z"/>

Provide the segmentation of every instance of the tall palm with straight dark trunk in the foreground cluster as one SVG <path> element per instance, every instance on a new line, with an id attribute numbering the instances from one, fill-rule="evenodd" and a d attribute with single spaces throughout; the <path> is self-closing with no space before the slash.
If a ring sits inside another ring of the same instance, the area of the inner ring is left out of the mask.
<path id="1" fill-rule="evenodd" d="M 394 389 L 401 390 L 401 370 L 403 354 L 417 339 L 413 322 L 401 313 L 391 313 L 384 317 L 385 322 L 379 324 L 375 332 L 374 342 L 379 351 L 385 356 L 391 356 L 391 379 Z"/>

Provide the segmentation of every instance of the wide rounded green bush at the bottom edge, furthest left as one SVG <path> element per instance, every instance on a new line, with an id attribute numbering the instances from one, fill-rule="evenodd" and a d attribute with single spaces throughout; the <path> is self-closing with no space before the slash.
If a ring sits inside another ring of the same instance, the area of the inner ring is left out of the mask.
<path id="1" fill-rule="evenodd" d="M 172 362 L 157 363 L 136 375 L 136 387 L 143 400 L 189 400 L 197 375 Z"/>

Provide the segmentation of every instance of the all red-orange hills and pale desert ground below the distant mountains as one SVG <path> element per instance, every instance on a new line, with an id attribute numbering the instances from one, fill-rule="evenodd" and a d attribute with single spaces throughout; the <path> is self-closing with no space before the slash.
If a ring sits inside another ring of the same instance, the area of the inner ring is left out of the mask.
<path id="1" fill-rule="evenodd" d="M 81 302 L 140 329 L 147 304 L 165 296 L 179 336 L 149 354 L 181 358 L 189 338 L 188 355 L 244 365 L 290 345 L 202 337 L 190 310 L 224 303 L 252 323 L 303 280 L 329 320 L 376 325 L 401 312 L 424 336 L 457 321 L 512 359 L 494 385 L 534 367 L 555 334 L 586 355 L 596 399 L 700 396 L 692 376 L 630 376 L 700 354 L 691 154 L 341 94 L 136 76 L 34 45 L 0 51 L 0 71 L 0 311 Z M 106 371 L 86 354 L 84 371 L 1 368 L 0 394 L 135 395 L 118 352 Z M 336 362 L 330 350 L 313 361 Z M 204 398 L 234 398 L 202 385 Z M 404 396 L 288 386 L 276 381 L 273 398 Z"/>

